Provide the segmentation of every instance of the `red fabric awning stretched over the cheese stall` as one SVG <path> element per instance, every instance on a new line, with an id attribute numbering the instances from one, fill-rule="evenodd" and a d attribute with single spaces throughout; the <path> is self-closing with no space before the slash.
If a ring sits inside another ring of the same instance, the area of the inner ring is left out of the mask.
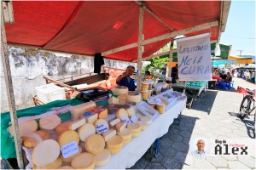
<path id="1" fill-rule="evenodd" d="M 220 1 L 146 2 L 148 8 L 175 30 L 182 30 L 220 19 Z M 138 37 L 139 8 L 134 1 L 13 2 L 15 24 L 6 24 L 9 43 L 77 54 L 102 53 L 133 42 Z M 144 39 L 172 32 L 144 11 Z M 211 32 L 218 38 L 218 27 L 186 36 Z M 145 45 L 143 57 L 162 48 L 171 39 Z M 106 58 L 132 61 L 137 48 L 108 54 Z"/>

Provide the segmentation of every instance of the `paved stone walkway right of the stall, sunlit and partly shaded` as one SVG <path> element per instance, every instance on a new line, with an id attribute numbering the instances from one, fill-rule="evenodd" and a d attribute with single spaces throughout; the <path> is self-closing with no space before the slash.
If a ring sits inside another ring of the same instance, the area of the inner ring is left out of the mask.
<path id="1" fill-rule="evenodd" d="M 253 83 L 245 82 L 240 78 L 234 78 L 234 81 L 235 87 L 230 90 L 203 92 L 200 98 L 195 100 L 190 110 L 185 109 L 183 111 L 180 124 L 178 125 L 177 121 L 172 123 L 169 132 L 160 138 L 160 155 L 151 161 L 151 155 L 147 152 L 131 168 L 255 169 L 253 116 L 243 121 L 236 116 L 243 97 L 242 94 L 236 93 L 237 86 L 250 89 L 255 88 L 255 86 Z M 228 142 L 235 139 L 236 144 L 237 142 L 238 144 L 246 144 L 250 152 L 248 156 L 209 154 L 205 158 L 198 159 L 190 154 L 189 144 L 192 148 L 192 143 L 197 141 L 195 139 L 201 138 L 207 139 L 211 144 L 215 139 Z"/>

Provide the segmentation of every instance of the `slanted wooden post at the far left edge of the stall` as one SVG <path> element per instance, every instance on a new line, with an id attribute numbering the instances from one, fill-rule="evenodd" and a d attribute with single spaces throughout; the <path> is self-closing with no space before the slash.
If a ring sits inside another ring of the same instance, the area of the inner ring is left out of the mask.
<path id="1" fill-rule="evenodd" d="M 18 124 L 18 120 L 17 120 L 17 112 L 16 112 L 16 107 L 15 107 L 14 87 L 13 87 L 10 65 L 9 65 L 9 55 L 8 55 L 5 27 L 4 27 L 4 21 L 3 21 L 2 5 L 0 8 L 1 8 L 1 14 L 2 14 L 2 17 L 1 17 L 1 37 L 2 37 L 1 58 L 3 61 L 3 75 L 4 75 L 4 79 L 5 79 L 5 86 L 6 86 L 7 97 L 8 97 L 8 102 L 9 102 L 9 113 L 10 113 L 10 118 L 11 118 L 11 122 L 12 122 L 12 128 L 14 131 L 15 150 L 16 150 L 18 166 L 20 167 L 20 169 L 23 169 L 24 162 L 23 162 L 21 142 L 20 142 L 19 124 Z"/>

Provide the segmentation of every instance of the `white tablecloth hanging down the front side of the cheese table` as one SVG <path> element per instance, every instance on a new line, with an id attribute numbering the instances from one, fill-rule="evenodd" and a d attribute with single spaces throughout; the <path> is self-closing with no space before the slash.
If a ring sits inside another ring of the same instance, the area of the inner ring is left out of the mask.
<path id="1" fill-rule="evenodd" d="M 147 129 L 130 143 L 125 144 L 123 150 L 112 155 L 111 160 L 102 169 L 125 169 L 132 167 L 148 150 L 155 139 L 160 138 L 168 132 L 173 120 L 186 107 L 186 100 L 176 101 L 173 106 L 162 115 L 155 117 Z"/>

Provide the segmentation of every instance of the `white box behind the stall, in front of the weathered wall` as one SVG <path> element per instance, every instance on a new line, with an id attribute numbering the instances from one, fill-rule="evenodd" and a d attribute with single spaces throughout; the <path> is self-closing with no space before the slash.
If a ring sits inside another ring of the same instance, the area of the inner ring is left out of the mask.
<path id="1" fill-rule="evenodd" d="M 46 84 L 36 87 L 36 94 L 38 99 L 45 104 L 58 99 L 66 99 L 64 88 L 60 88 L 54 84 Z"/>

